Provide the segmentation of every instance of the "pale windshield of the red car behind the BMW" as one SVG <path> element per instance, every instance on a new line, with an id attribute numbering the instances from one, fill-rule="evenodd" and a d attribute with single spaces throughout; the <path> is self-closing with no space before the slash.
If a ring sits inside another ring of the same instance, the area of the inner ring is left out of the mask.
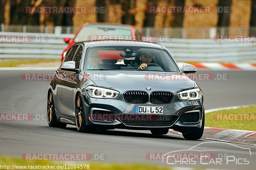
<path id="1" fill-rule="evenodd" d="M 116 36 L 122 36 L 116 37 Z M 75 42 L 86 40 L 107 40 L 107 39 L 127 39 L 131 40 L 130 29 L 115 29 L 105 27 L 84 26 L 76 35 Z"/>

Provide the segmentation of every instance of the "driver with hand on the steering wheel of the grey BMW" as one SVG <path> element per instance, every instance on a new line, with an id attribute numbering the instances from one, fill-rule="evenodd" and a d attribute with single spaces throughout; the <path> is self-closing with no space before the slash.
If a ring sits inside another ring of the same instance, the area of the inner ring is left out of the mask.
<path id="1" fill-rule="evenodd" d="M 138 67 L 138 69 L 145 70 L 145 68 L 148 67 L 148 63 L 152 62 L 152 56 L 152 53 L 144 51 L 141 53 L 140 63 L 136 61 L 131 61 L 130 65 L 128 65 L 127 67 Z"/>

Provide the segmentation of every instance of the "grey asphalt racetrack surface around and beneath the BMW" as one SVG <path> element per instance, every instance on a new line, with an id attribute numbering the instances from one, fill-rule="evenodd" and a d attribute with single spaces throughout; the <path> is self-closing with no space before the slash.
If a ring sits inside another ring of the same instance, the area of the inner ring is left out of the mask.
<path id="1" fill-rule="evenodd" d="M 27 73 L 51 74 L 53 72 L 1 70 L 0 113 L 45 115 L 49 81 L 24 81 L 22 76 Z M 220 75 L 227 77 L 222 80 L 197 81 L 204 92 L 205 109 L 256 103 L 255 71 L 198 71 L 197 73 L 210 73 L 216 79 L 220 78 Z M 0 121 L 0 155 L 21 158 L 24 153 L 104 153 L 107 159 L 101 162 L 218 169 L 254 169 L 256 165 L 255 146 L 209 143 L 210 140 L 188 141 L 173 134 L 153 136 L 149 131 L 115 129 L 102 134 L 79 133 L 76 127 L 71 125 L 65 129 L 51 128 L 46 120 L 42 119 L 44 118 L 34 121 Z M 214 163 L 202 165 L 199 161 L 196 165 L 187 165 L 184 162 L 168 165 L 166 161 L 163 163 L 161 160 L 148 160 L 146 157 L 149 153 L 186 150 L 197 144 L 200 144 L 196 147 L 197 150 L 218 150 L 207 152 L 232 155 L 235 156 L 235 160 L 247 158 L 249 164 L 236 165 L 234 161 L 229 162 L 228 165 L 226 162 L 218 165 Z M 248 154 L 248 149 L 243 148 L 249 148 L 251 156 Z"/>

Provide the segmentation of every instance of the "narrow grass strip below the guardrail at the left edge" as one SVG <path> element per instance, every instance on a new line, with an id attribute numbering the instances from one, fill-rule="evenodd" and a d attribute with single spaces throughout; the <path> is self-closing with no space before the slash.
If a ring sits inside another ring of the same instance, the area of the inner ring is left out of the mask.
<path id="1" fill-rule="evenodd" d="M 17 67 L 19 64 L 35 64 L 35 63 L 52 63 L 60 62 L 60 59 L 11 59 L 1 60 L 0 67 Z"/>

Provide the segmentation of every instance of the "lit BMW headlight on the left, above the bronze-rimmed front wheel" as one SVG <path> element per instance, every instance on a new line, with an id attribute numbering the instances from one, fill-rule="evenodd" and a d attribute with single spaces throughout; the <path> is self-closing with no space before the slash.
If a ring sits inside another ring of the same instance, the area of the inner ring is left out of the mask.
<path id="1" fill-rule="evenodd" d="M 100 98 L 100 99 L 114 99 L 119 95 L 119 92 L 115 90 L 105 89 L 101 87 L 88 86 L 85 91 L 90 97 Z"/>

